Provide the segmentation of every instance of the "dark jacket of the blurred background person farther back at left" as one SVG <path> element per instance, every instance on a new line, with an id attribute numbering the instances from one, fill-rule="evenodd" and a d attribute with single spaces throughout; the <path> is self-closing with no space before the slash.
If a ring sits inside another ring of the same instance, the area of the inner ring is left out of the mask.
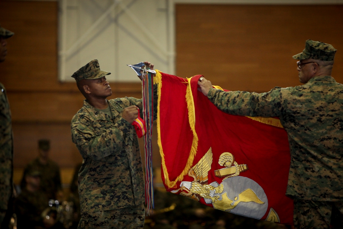
<path id="1" fill-rule="evenodd" d="M 48 160 L 46 164 L 42 164 L 37 157 L 28 163 L 24 169 L 22 188 L 25 187 L 25 176 L 28 171 L 39 171 L 40 173 L 40 188 L 49 199 L 56 199 L 56 193 L 62 190 L 60 168 L 55 161 Z"/>

